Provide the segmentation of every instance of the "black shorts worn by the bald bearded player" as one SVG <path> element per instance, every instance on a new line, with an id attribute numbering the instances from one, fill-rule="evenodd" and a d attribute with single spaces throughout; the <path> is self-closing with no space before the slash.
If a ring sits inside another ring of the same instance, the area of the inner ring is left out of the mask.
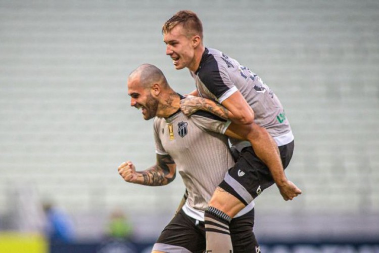
<path id="1" fill-rule="evenodd" d="M 253 227 L 254 208 L 231 220 L 229 229 L 233 253 L 257 252 L 259 245 Z M 164 228 L 153 249 L 170 253 L 203 253 L 206 249 L 204 222 L 193 219 L 180 210 Z"/>

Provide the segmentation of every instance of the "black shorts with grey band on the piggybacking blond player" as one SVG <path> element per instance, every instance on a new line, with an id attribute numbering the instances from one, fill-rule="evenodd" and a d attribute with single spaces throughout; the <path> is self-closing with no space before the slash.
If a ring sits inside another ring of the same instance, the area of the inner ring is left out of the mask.
<path id="1" fill-rule="evenodd" d="M 283 168 L 286 168 L 294 153 L 294 141 L 278 148 Z M 229 169 L 219 187 L 248 205 L 274 183 L 269 168 L 250 146 L 242 149 L 234 167 Z"/>

